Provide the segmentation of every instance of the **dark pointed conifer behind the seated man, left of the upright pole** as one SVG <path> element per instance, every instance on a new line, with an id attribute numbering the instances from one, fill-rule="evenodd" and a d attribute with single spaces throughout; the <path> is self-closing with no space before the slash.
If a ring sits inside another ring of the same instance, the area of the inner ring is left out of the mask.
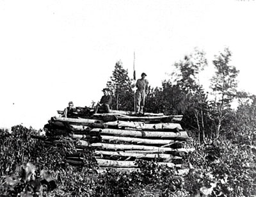
<path id="1" fill-rule="evenodd" d="M 110 79 L 107 87 L 113 92 L 113 109 L 133 111 L 134 93 L 131 87 L 131 79 L 128 77 L 128 71 L 123 68 L 121 60 L 116 62 L 115 70 Z"/>

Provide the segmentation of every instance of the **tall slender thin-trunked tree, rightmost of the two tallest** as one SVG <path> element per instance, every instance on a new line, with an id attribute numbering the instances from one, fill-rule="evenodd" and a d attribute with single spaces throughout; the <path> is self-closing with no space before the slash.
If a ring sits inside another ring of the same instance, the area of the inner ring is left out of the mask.
<path id="1" fill-rule="evenodd" d="M 212 61 L 216 68 L 216 73 L 211 79 L 211 88 L 216 98 L 212 107 L 213 113 L 216 114 L 216 138 L 220 136 L 221 124 L 230 111 L 230 104 L 237 93 L 236 77 L 239 70 L 229 65 L 231 56 L 230 50 L 225 48 Z"/>

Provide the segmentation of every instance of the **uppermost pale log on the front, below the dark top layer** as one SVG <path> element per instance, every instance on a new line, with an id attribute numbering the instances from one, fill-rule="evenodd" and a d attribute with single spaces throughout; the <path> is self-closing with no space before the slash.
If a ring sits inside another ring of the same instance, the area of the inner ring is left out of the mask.
<path id="1" fill-rule="evenodd" d="M 104 127 L 107 128 L 108 126 L 115 126 L 118 128 L 122 127 L 129 127 L 138 130 L 170 130 L 170 129 L 177 129 L 182 130 L 182 127 L 179 123 L 144 123 L 144 122 L 125 122 L 125 121 L 114 121 L 114 122 L 106 122 L 104 123 Z"/>

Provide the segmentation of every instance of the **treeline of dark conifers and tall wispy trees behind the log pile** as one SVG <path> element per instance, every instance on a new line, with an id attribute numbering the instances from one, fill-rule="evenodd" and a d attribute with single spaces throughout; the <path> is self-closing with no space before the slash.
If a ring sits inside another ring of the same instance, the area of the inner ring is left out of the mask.
<path id="1" fill-rule="evenodd" d="M 215 74 L 211 79 L 211 91 L 200 84 L 200 75 L 209 62 L 205 52 L 195 48 L 191 54 L 174 63 L 176 72 L 163 81 L 162 87 L 150 88 L 146 97 L 145 111 L 164 114 L 183 114 L 185 129 L 200 139 L 219 138 L 227 132 L 230 122 L 238 111 L 231 104 L 236 100 L 239 107 L 255 103 L 255 95 L 237 90 L 239 70 L 230 65 L 232 52 L 225 48 L 214 56 Z M 116 62 L 107 86 L 113 93 L 113 109 L 134 110 L 133 81 L 128 77 L 122 61 Z"/>

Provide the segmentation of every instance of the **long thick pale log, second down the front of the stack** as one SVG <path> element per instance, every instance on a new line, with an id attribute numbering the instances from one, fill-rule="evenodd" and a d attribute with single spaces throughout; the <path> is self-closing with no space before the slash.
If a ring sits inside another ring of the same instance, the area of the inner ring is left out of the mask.
<path id="1" fill-rule="evenodd" d="M 178 140 L 188 139 L 186 131 L 180 132 L 162 132 L 162 131 L 145 131 L 145 130 L 122 130 L 122 129 L 92 129 L 99 131 L 101 135 L 130 136 L 139 138 L 172 138 Z"/>

